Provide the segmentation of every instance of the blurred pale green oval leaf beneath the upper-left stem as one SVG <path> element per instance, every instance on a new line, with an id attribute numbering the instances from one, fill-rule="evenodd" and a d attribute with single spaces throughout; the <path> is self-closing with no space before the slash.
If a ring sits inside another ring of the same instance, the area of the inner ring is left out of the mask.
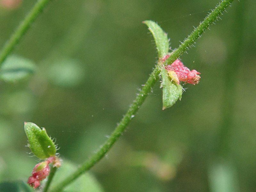
<path id="1" fill-rule="evenodd" d="M 0 79 L 6 82 L 16 82 L 35 72 L 35 64 L 20 56 L 11 55 L 0 68 Z"/>

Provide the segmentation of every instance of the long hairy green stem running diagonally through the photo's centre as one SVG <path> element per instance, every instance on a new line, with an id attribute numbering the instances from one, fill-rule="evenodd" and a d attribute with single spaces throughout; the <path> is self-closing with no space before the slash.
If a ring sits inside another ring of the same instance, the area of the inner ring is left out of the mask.
<path id="1" fill-rule="evenodd" d="M 179 48 L 172 52 L 171 56 L 165 61 L 165 64 L 172 63 L 174 60 L 180 57 L 182 53 L 184 53 L 190 45 L 192 45 L 197 38 L 220 16 L 220 14 L 231 4 L 233 0 L 224 0 L 221 1 L 220 4 L 204 19 L 204 21 L 197 27 L 195 30 L 188 36 L 188 38 L 180 44 Z M 87 161 L 85 161 L 75 172 L 71 173 L 67 176 L 63 181 L 58 183 L 54 188 L 52 188 L 52 192 L 60 191 L 65 186 L 70 184 L 72 181 L 76 180 L 81 174 L 92 168 L 100 159 L 102 159 L 105 154 L 109 151 L 112 145 L 116 142 L 116 140 L 121 136 L 124 132 L 126 126 L 131 122 L 132 117 L 138 111 L 148 93 L 150 92 L 153 85 L 156 83 L 158 79 L 158 75 L 160 70 L 158 66 L 156 66 L 153 72 L 150 74 L 147 82 L 142 87 L 138 96 L 128 109 L 127 113 L 124 115 L 122 120 L 116 126 L 114 132 L 110 135 L 109 139 L 103 144 L 103 146 Z"/>

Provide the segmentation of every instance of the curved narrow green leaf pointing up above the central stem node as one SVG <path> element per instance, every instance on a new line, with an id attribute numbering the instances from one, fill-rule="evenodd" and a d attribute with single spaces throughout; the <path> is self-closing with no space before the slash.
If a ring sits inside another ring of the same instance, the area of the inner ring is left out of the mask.
<path id="1" fill-rule="evenodd" d="M 156 42 L 156 49 L 158 52 L 158 58 L 163 58 L 164 55 L 166 55 L 169 51 L 169 41 L 167 34 L 154 21 L 146 20 L 143 21 L 143 23 L 148 26 L 149 31 L 154 36 Z"/>

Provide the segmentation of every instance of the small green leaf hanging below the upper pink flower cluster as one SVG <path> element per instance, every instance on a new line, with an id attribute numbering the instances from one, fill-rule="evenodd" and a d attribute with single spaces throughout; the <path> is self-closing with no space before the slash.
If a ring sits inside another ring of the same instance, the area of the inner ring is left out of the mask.
<path id="1" fill-rule="evenodd" d="M 172 107 L 172 105 L 176 103 L 178 99 L 181 100 L 182 86 L 170 79 L 164 67 L 161 68 L 161 76 L 162 76 L 161 86 L 163 87 L 163 110 L 164 110 L 166 108 Z"/>

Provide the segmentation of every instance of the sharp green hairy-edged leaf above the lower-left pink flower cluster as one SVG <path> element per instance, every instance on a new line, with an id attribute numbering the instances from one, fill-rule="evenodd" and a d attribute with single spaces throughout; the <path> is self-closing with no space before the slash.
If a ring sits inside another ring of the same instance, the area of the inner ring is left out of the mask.
<path id="1" fill-rule="evenodd" d="M 40 129 L 34 123 L 25 122 L 24 129 L 28 137 L 28 146 L 36 157 L 46 159 L 55 155 L 55 145 L 44 128 Z"/>

